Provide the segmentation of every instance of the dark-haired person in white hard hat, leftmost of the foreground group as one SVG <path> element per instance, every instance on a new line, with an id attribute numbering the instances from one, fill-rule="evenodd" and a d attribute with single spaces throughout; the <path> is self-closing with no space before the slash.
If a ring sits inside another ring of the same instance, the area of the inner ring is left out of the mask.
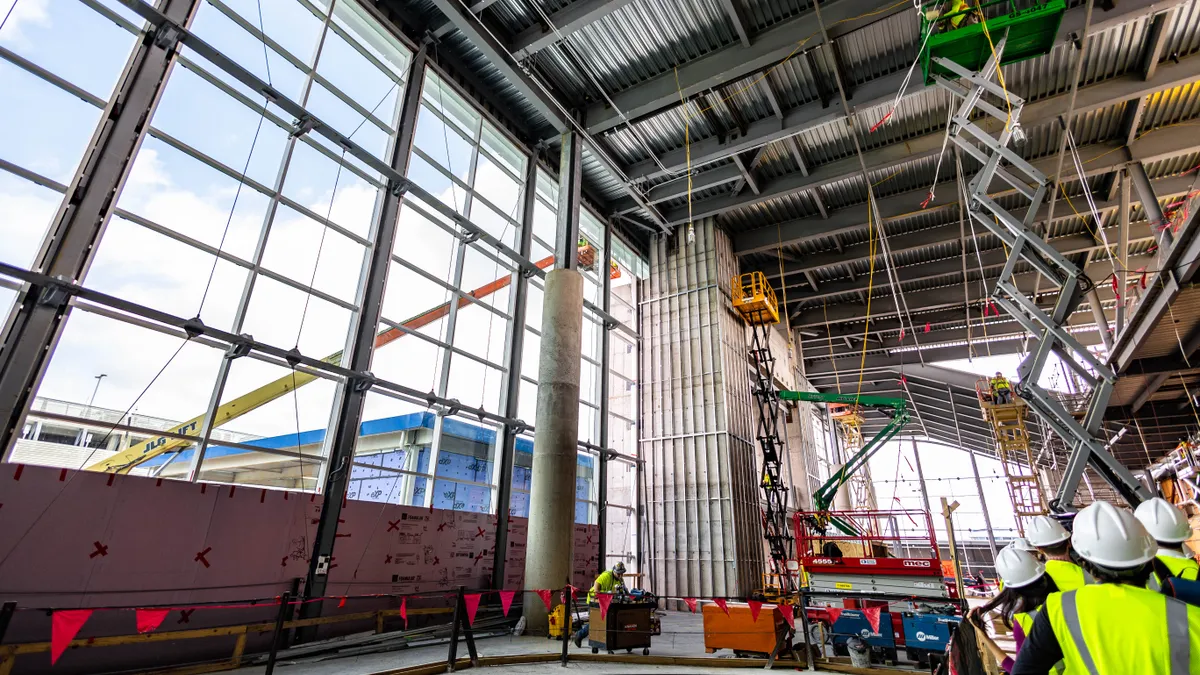
<path id="1" fill-rule="evenodd" d="M 1001 669 L 1008 673 L 1013 669 L 1013 657 L 988 635 L 983 617 L 998 609 L 1000 620 L 1013 632 L 1016 653 L 1020 653 L 1025 637 L 1033 628 L 1033 619 L 1042 611 L 1046 597 L 1058 592 L 1058 586 L 1046 574 L 1046 567 L 1042 561 L 1030 551 L 1013 545 L 1004 546 L 996 554 L 996 574 L 1004 584 L 1004 590 L 986 604 L 971 610 L 967 616 L 979 628 L 976 638 L 983 641 L 988 651 L 996 657 Z"/>

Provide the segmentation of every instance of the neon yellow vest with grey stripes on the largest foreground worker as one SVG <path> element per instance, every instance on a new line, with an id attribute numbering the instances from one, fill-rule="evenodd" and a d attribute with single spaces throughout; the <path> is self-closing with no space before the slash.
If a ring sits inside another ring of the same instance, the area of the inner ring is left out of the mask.
<path id="1" fill-rule="evenodd" d="M 1046 598 L 1069 674 L 1200 673 L 1200 608 L 1126 584 Z"/>

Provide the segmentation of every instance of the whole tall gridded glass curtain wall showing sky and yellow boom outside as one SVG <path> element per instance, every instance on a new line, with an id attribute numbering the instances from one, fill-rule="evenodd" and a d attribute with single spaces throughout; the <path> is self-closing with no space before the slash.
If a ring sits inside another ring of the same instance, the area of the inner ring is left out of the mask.
<path id="1" fill-rule="evenodd" d="M 62 196 L 100 121 L 143 23 L 115 0 L 20 2 L 0 31 L 0 90 L 16 104 L 0 121 L 0 262 L 31 269 Z M 397 136 L 410 47 L 356 0 L 277 0 L 258 6 L 204 0 L 197 36 L 296 101 L 384 162 Z M 82 58 L 86 54 L 86 58 Z M 442 73 L 422 73 L 408 178 L 434 203 L 409 193 L 386 285 L 364 287 L 385 178 L 312 133 L 220 67 L 181 48 L 150 130 L 85 276 L 89 288 L 205 325 L 248 334 L 305 357 L 347 364 L 344 350 L 365 293 L 380 292 L 371 371 L 385 383 L 457 401 L 431 405 L 388 386 L 367 393 L 349 496 L 491 513 L 498 428 L 456 405 L 502 410 L 520 377 L 516 416 L 535 422 L 542 282 L 516 274 L 504 252 L 437 210 L 452 209 L 518 250 L 533 223 L 530 259 L 548 269 L 556 237 L 557 178 L 539 169 L 527 186 L 523 148 Z M 534 213 L 522 213 L 524 190 Z M 607 225 L 581 217 L 586 297 L 635 328 L 646 262 Z M 617 271 L 613 271 L 617 270 Z M 514 283 L 528 286 L 524 325 L 515 325 Z M 0 311 L 19 283 L 0 276 Z M 524 330 L 520 354 L 506 353 Z M 576 521 L 598 518 L 600 419 L 610 447 L 637 455 L 637 341 L 612 330 L 601 369 L 604 322 L 584 311 Z M 510 372 L 511 370 L 511 372 Z M 600 383 L 610 377 L 610 396 Z M 227 359 L 221 345 L 188 340 L 103 306 L 76 303 L 11 461 L 104 468 L 136 452 L 132 473 L 184 480 L 318 490 L 343 382 L 252 352 Z M 233 411 L 233 412 L 230 412 Z M 156 437 L 196 435 L 208 442 Z M 150 452 L 142 453 L 150 448 Z M 533 437 L 516 441 L 514 515 L 528 514 Z M 115 460 L 114 460 L 115 461 Z M 610 462 L 614 555 L 631 557 L 634 470 Z"/>

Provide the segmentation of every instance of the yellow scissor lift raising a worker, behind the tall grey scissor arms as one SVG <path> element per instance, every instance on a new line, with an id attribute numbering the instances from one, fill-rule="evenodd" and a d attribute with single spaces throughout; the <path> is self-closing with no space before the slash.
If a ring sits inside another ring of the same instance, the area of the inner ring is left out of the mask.
<path id="1" fill-rule="evenodd" d="M 1016 531 L 1024 537 L 1025 525 L 1036 515 L 1045 515 L 1045 500 L 1042 483 L 1033 471 L 1033 455 L 1030 452 L 1030 432 L 1025 428 L 1025 414 L 1028 406 L 1015 394 L 1013 402 L 996 404 L 991 399 L 991 388 L 986 377 L 976 384 L 979 394 L 979 408 L 983 418 L 991 425 L 996 438 L 996 454 L 1008 480 L 1008 496 L 1013 501 L 1013 513 L 1016 514 Z"/>

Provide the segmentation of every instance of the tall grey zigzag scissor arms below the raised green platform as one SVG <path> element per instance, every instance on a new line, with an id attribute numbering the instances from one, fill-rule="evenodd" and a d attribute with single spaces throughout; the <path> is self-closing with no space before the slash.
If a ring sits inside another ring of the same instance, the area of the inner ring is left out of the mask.
<path id="1" fill-rule="evenodd" d="M 1009 141 L 1014 137 L 1018 141 L 1024 137 L 1019 121 L 1025 101 L 1004 91 L 992 80 L 998 72 L 1006 41 L 1007 37 L 1000 40 L 992 50 L 992 56 L 978 72 L 970 72 L 948 59 L 934 60 L 959 77 L 958 82 L 952 82 L 946 77 L 935 76 L 937 86 L 961 100 L 950 121 L 950 141 L 983 163 L 983 169 L 968 184 L 967 210 L 972 219 L 998 237 L 1009 250 L 1008 261 L 992 288 L 991 297 L 1037 340 L 1036 348 L 1018 369 L 1016 392 L 1070 448 L 1062 483 L 1050 501 L 1052 510 L 1066 513 L 1072 509 L 1072 501 L 1087 465 L 1103 476 L 1130 504 L 1138 504 L 1151 497 L 1150 490 L 1112 456 L 1100 430 L 1117 376 L 1066 328 L 1067 319 L 1092 288 L 1092 280 L 1031 229 L 1038 208 L 1045 199 L 1046 191 L 1051 189 L 1051 181 L 1008 148 Z M 998 104 L 989 102 L 988 96 L 998 100 Z M 1009 112 L 1003 109 L 1006 106 Z M 972 117 L 977 112 L 996 118 L 1004 125 L 998 137 L 972 123 Z M 988 196 L 991 183 L 996 179 L 1030 201 L 1024 217 L 1007 211 Z M 1027 297 L 1018 286 L 1014 269 L 1019 262 L 1028 263 L 1042 277 L 1058 288 L 1057 300 L 1049 311 L 1039 307 L 1037 299 Z M 1082 420 L 1075 419 L 1070 411 L 1038 384 L 1051 353 L 1091 386 L 1091 396 Z"/>

